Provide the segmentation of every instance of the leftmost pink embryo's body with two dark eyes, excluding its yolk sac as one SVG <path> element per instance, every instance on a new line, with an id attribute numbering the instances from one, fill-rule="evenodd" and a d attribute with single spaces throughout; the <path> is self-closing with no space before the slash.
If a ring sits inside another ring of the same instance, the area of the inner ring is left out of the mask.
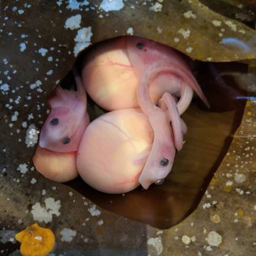
<path id="1" fill-rule="evenodd" d="M 78 150 L 88 125 L 87 97 L 77 71 L 73 72 L 78 90 L 64 90 L 59 86 L 49 98 L 51 112 L 44 122 L 39 138 L 42 148 L 61 153 Z"/>

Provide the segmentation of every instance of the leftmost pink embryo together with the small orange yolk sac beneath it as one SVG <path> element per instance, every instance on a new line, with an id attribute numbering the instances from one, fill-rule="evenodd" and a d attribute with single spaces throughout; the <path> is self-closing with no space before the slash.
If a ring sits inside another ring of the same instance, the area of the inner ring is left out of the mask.
<path id="1" fill-rule="evenodd" d="M 73 70 L 78 91 L 56 88 L 49 98 L 52 108 L 46 119 L 32 158 L 37 172 L 56 182 L 67 182 L 78 176 L 76 158 L 84 130 L 89 125 L 87 98 L 81 79 Z M 58 118 L 54 125 L 51 121 Z M 56 125 L 56 123 L 58 123 Z M 63 144 L 63 138 L 71 141 Z"/>

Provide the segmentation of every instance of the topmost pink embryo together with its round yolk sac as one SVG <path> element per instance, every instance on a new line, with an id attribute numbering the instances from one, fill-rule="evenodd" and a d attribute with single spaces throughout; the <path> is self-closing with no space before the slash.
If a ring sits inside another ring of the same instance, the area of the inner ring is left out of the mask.
<path id="1" fill-rule="evenodd" d="M 83 85 L 102 108 L 110 111 L 138 108 L 136 89 L 139 79 L 148 65 L 159 60 L 182 68 L 184 73 L 193 77 L 186 61 L 176 50 L 141 37 L 124 36 L 95 45 L 88 51 L 82 67 Z M 184 83 L 183 75 L 160 73 L 151 81 L 150 98 L 156 104 L 165 92 L 181 97 L 182 88 L 188 85 Z M 189 87 L 207 102 L 195 80 Z M 193 92 L 189 95 L 188 105 Z"/>

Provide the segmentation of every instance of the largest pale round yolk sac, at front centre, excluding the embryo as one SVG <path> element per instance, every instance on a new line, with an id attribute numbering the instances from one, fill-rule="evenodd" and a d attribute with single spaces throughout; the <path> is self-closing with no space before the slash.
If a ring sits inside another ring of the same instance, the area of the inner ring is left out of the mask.
<path id="1" fill-rule="evenodd" d="M 77 155 L 78 172 L 98 191 L 129 192 L 139 186 L 153 137 L 148 117 L 140 109 L 106 113 L 84 132 Z"/>

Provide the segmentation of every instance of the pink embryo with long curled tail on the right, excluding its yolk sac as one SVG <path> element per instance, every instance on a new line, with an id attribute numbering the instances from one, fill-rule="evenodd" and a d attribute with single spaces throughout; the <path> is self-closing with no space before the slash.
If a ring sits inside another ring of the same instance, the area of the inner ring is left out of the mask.
<path id="1" fill-rule="evenodd" d="M 180 73 L 180 75 L 184 75 L 187 84 L 191 83 L 189 76 L 183 74 L 183 70 L 179 70 L 176 65 L 165 60 L 156 61 L 149 65 L 141 75 L 137 88 L 139 106 L 148 116 L 150 125 L 154 130 L 153 146 L 139 177 L 139 183 L 145 189 L 151 183 L 158 182 L 169 174 L 173 166 L 176 149 L 182 149 L 183 134 L 187 130 L 186 125 L 179 117 L 174 96 L 164 93 L 159 100 L 159 106 L 162 108 L 155 106 L 149 97 L 151 81 L 159 73 L 166 72 Z M 183 99 L 181 98 L 180 101 L 183 101 Z"/>

